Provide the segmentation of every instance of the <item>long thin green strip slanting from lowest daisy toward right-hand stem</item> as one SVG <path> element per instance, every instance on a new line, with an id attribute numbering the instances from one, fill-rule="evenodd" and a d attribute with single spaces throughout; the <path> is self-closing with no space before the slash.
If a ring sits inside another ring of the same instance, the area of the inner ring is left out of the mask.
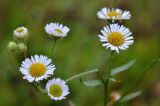
<path id="1" fill-rule="evenodd" d="M 95 73 L 95 72 L 98 72 L 98 69 L 93 69 L 91 71 L 87 71 L 87 72 L 84 72 L 84 73 L 80 73 L 80 74 L 74 75 L 74 76 L 66 79 L 66 82 L 69 82 L 69 81 L 74 80 L 76 78 L 79 78 L 81 76 L 84 76 L 84 75 L 87 75 L 87 74 L 90 74 L 90 73 Z"/>

